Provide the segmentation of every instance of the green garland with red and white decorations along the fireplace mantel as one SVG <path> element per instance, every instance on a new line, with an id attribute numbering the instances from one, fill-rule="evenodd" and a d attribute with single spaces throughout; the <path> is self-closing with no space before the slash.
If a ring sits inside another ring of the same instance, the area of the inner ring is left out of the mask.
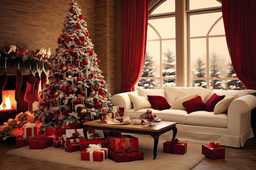
<path id="1" fill-rule="evenodd" d="M 31 51 L 25 49 L 24 46 L 4 46 L 0 48 L 0 65 L 5 66 L 5 62 L 8 66 L 17 66 L 31 69 L 32 72 L 39 70 L 48 71 L 50 65 L 51 52 L 50 49 L 46 50 L 41 48 L 40 50 Z"/>

